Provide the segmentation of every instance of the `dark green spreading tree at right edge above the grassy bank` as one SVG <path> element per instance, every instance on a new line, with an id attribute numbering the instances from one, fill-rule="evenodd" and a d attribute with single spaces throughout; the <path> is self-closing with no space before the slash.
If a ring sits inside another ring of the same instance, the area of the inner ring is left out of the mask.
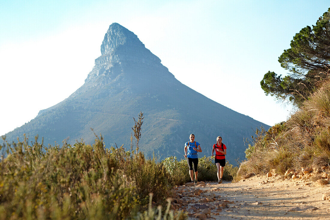
<path id="1" fill-rule="evenodd" d="M 261 80 L 266 95 L 286 99 L 300 106 L 315 91 L 319 82 L 328 77 L 330 64 L 330 8 L 316 21 L 307 26 L 291 41 L 291 48 L 279 57 L 281 66 L 289 71 L 281 77 L 268 71 Z"/>

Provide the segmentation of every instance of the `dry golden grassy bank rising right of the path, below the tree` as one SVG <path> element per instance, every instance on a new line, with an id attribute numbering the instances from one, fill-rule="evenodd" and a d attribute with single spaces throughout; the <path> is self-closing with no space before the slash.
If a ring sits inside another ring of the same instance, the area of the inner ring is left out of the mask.
<path id="1" fill-rule="evenodd" d="M 248 140 L 248 160 L 242 163 L 235 181 L 271 169 L 284 174 L 288 168 L 320 170 L 329 166 L 330 80 L 324 80 L 286 122 L 255 134 Z"/>

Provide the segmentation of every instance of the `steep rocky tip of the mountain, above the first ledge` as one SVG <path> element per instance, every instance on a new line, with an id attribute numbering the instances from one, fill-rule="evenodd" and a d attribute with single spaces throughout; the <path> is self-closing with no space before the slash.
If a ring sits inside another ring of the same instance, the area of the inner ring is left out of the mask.
<path id="1" fill-rule="evenodd" d="M 122 45 L 145 48 L 138 36 L 136 36 L 132 31 L 118 23 L 112 23 L 104 36 L 104 40 L 101 45 L 101 54 L 112 54 L 115 49 Z"/>

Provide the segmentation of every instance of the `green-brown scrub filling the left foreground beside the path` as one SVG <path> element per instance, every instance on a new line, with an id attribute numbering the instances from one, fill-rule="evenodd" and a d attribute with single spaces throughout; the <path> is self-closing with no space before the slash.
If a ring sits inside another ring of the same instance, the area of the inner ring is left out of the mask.
<path id="1" fill-rule="evenodd" d="M 93 145 L 48 148 L 24 138 L 0 148 L 7 149 L 0 159 L 0 219 L 143 219 L 160 215 L 151 196 L 165 205 L 171 189 L 162 163 L 123 146 L 106 149 L 102 137 Z M 162 213 L 184 218 L 168 208 Z"/>

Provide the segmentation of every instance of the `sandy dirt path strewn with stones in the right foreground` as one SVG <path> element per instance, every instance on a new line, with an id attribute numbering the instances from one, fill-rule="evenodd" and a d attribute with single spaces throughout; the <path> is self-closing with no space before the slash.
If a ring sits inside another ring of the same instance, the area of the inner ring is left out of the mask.
<path id="1" fill-rule="evenodd" d="M 268 182 L 260 185 L 261 181 Z M 330 192 L 329 185 L 252 176 L 238 183 L 179 186 L 173 190 L 172 204 L 187 212 L 189 219 L 203 211 L 207 219 L 330 219 L 330 202 L 322 200 L 322 194 Z M 194 195 L 194 191 L 202 192 Z"/>

